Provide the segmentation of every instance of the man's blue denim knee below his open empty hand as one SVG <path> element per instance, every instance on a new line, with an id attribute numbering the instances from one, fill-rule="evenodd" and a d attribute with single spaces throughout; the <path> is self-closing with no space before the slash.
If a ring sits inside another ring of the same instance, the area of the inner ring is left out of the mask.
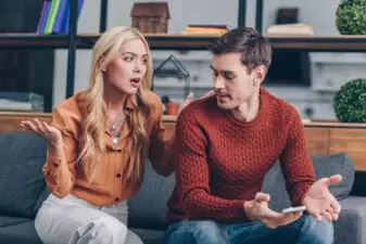
<path id="1" fill-rule="evenodd" d="M 317 221 L 311 215 L 302 217 L 302 224 L 300 229 L 301 242 L 300 243 L 314 243 L 314 244 L 332 244 L 333 243 L 333 224 L 327 219 L 323 218 Z"/>

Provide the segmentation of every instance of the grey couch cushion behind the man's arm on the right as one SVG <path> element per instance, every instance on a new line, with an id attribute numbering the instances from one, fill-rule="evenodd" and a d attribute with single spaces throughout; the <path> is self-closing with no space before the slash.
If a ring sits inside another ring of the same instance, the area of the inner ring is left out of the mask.
<path id="1" fill-rule="evenodd" d="M 354 165 L 348 154 L 314 155 L 312 162 L 317 179 L 340 174 L 342 181 L 338 185 L 331 185 L 329 191 L 339 201 L 349 196 L 354 181 Z M 286 191 L 279 163 L 276 163 L 266 175 L 262 191 L 270 194 L 270 208 L 280 210 L 290 206 L 290 197 Z"/>

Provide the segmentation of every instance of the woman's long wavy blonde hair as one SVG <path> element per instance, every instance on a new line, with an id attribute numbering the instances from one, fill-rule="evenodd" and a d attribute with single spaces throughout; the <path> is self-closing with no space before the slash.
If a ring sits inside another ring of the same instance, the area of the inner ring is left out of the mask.
<path id="1" fill-rule="evenodd" d="M 90 88 L 84 97 L 85 119 L 81 123 L 83 144 L 78 164 L 85 177 L 92 182 L 98 177 L 101 153 L 105 152 L 106 105 L 103 100 L 102 65 L 108 65 L 119 53 L 121 46 L 130 40 L 140 39 L 148 51 L 147 73 L 137 93 L 128 99 L 134 101 L 135 110 L 126 117 L 130 134 L 128 134 L 125 150 L 129 150 L 129 162 L 126 176 L 131 183 L 141 181 L 147 151 L 147 132 L 144 128 L 146 112 L 150 104 L 146 101 L 146 92 L 150 90 L 152 79 L 152 60 L 149 44 L 143 35 L 135 28 L 117 26 L 105 31 L 96 42 L 92 50 Z M 103 60 L 103 64 L 101 63 Z"/>

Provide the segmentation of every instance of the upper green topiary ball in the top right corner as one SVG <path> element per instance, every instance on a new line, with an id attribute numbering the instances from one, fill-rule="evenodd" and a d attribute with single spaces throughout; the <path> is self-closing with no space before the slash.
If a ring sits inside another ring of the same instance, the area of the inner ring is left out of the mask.
<path id="1" fill-rule="evenodd" d="M 342 35 L 366 34 L 366 0 L 341 0 L 336 25 Z"/>

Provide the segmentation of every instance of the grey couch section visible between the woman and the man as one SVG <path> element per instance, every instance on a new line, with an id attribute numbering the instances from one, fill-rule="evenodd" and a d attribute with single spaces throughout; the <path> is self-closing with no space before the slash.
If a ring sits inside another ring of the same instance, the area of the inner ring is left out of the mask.
<path id="1" fill-rule="evenodd" d="M 128 226 L 163 230 L 167 227 L 166 202 L 175 185 L 175 176 L 159 176 L 147 164 L 139 193 L 128 201 Z"/>

